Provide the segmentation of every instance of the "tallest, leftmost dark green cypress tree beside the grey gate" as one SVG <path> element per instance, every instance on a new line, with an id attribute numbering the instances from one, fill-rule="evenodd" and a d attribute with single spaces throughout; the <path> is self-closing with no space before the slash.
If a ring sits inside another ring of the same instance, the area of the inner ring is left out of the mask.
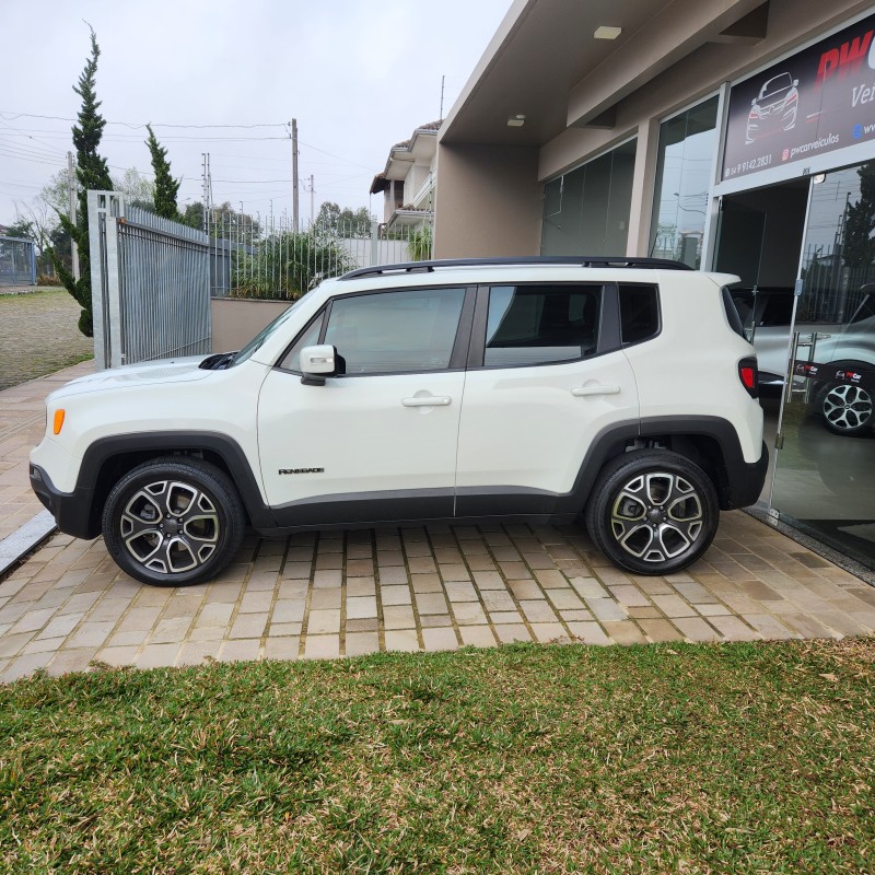
<path id="1" fill-rule="evenodd" d="M 79 211 L 75 224 L 63 213 L 59 213 L 61 225 L 75 241 L 79 247 L 79 266 L 81 276 L 77 281 L 67 269 L 61 258 L 52 249 L 47 252 L 55 266 L 55 270 L 68 292 L 79 302 L 82 312 L 79 314 L 79 330 L 85 337 L 94 336 L 94 325 L 91 310 L 91 252 L 89 248 L 89 211 L 88 191 L 98 189 L 113 190 L 113 180 L 109 177 L 109 167 L 106 159 L 97 153 L 97 147 L 103 136 L 106 121 L 97 112 L 101 102 L 94 91 L 94 78 L 97 72 L 97 58 L 101 49 L 94 28 L 91 30 L 91 57 L 85 62 L 85 68 L 79 77 L 79 84 L 73 85 L 73 91 L 82 98 L 82 106 L 78 115 L 78 124 L 73 126 L 73 145 L 77 153 L 75 176 L 79 183 Z"/>

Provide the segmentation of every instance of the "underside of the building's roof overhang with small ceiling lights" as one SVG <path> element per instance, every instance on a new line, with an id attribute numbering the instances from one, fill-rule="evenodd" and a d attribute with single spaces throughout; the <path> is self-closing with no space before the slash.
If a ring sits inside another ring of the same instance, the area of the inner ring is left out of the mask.
<path id="1" fill-rule="evenodd" d="M 705 44 L 763 39 L 768 9 L 768 0 L 515 0 L 440 141 L 538 148 L 568 128 L 611 128 L 618 103 Z M 620 36 L 596 39 L 602 25 Z M 508 125 L 521 115 L 522 126 Z"/>

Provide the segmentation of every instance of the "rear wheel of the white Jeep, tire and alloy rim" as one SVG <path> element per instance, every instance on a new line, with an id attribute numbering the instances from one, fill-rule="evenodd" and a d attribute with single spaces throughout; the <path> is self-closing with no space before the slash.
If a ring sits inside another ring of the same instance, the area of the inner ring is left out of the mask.
<path id="1" fill-rule="evenodd" d="M 584 512 L 596 547 L 635 574 L 672 574 L 710 546 L 720 522 L 711 478 L 667 450 L 637 450 L 609 462 Z"/>

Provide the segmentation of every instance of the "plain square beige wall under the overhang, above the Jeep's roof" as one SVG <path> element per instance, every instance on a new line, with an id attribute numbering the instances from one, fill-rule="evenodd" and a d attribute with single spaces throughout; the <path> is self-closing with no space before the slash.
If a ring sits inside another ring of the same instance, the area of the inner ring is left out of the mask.
<path id="1" fill-rule="evenodd" d="M 438 180 L 435 258 L 540 250 L 541 184 L 536 149 L 442 147 Z"/>

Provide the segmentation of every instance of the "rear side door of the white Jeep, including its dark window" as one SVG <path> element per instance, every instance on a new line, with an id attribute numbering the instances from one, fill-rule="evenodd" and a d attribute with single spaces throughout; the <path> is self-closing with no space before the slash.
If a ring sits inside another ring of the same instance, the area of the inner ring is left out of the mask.
<path id="1" fill-rule="evenodd" d="M 607 302 L 599 284 L 480 290 L 459 425 L 457 515 L 557 512 L 593 441 L 623 424 L 637 432 L 638 392 L 609 288 Z"/>

